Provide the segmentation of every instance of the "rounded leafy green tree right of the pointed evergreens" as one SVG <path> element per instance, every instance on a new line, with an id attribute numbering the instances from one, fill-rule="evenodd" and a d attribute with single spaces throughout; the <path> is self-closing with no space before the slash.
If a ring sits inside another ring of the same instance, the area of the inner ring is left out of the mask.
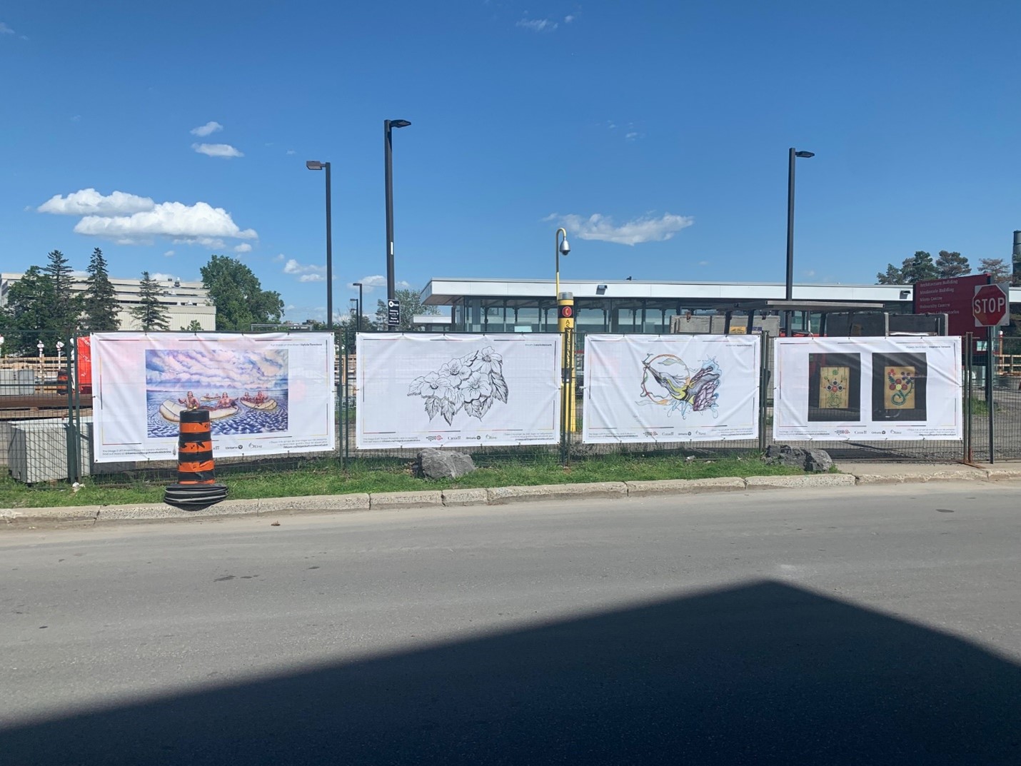
<path id="1" fill-rule="evenodd" d="M 253 324 L 270 325 L 283 318 L 280 293 L 263 290 L 252 270 L 237 258 L 212 255 L 199 271 L 216 306 L 217 330 L 251 332 Z"/>

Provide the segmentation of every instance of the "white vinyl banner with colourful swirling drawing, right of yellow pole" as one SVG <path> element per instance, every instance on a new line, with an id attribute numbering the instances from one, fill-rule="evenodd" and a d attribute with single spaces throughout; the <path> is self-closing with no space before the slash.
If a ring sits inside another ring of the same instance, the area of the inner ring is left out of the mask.
<path id="1" fill-rule="evenodd" d="M 756 438 L 759 358 L 751 335 L 586 335 L 582 440 Z"/>

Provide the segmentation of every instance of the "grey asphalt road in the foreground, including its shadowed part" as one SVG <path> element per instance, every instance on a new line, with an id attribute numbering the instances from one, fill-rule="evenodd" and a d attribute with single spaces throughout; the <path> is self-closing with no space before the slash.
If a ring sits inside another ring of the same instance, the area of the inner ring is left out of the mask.
<path id="1" fill-rule="evenodd" d="M 1021 763 L 1021 484 L 0 532 L 0 764 Z"/>

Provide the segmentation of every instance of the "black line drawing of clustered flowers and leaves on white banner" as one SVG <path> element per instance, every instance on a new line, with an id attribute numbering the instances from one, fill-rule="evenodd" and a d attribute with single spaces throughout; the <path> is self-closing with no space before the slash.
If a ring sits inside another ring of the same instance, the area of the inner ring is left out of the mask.
<path id="1" fill-rule="evenodd" d="M 503 357 L 491 346 L 465 356 L 455 356 L 439 370 L 421 375 L 407 388 L 408 396 L 422 396 L 431 421 L 437 415 L 453 424 L 458 411 L 482 420 L 493 400 L 507 401 Z"/>

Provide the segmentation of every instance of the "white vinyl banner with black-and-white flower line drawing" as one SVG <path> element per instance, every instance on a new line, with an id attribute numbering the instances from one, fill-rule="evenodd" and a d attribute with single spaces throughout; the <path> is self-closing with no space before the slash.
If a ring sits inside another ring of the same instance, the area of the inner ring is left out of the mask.
<path id="1" fill-rule="evenodd" d="M 555 444 L 561 336 L 359 333 L 357 446 Z"/>

